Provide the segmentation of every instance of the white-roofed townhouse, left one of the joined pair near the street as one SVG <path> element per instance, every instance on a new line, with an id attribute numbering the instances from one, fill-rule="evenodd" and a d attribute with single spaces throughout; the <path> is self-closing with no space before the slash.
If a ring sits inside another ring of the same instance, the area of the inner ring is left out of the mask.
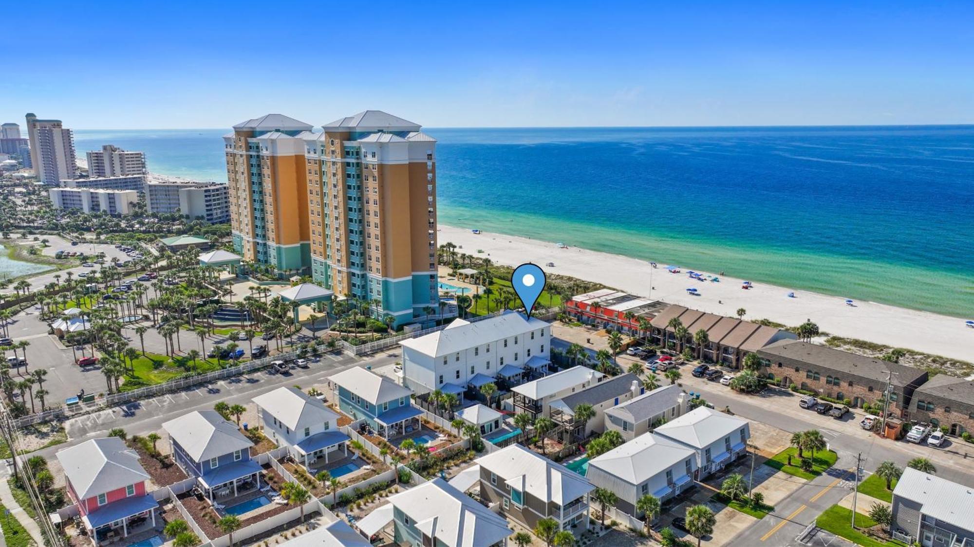
<path id="1" fill-rule="evenodd" d="M 636 502 L 654 495 L 665 503 L 693 488 L 696 451 L 665 437 L 646 433 L 588 461 L 585 478 L 596 488 L 616 492 L 612 509 L 642 519 Z"/>

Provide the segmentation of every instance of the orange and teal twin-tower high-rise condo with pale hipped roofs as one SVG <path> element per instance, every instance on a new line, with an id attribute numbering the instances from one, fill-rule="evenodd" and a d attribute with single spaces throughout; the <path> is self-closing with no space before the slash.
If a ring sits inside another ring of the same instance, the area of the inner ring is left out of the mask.
<path id="1" fill-rule="evenodd" d="M 323 129 L 268 114 L 224 136 L 237 249 L 377 301 L 397 325 L 452 313 L 437 293 L 435 139 L 378 110 Z"/>

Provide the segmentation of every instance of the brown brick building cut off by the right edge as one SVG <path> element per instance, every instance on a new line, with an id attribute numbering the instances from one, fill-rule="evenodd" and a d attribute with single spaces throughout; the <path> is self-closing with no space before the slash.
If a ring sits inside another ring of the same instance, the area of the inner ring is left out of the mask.
<path id="1" fill-rule="evenodd" d="M 974 382 L 938 374 L 914 391 L 910 418 L 946 425 L 951 435 L 974 431 Z"/>

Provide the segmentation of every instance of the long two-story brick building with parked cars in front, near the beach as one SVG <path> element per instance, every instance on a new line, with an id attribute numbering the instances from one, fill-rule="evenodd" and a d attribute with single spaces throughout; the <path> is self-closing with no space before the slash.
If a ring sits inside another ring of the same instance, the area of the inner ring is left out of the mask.
<path id="1" fill-rule="evenodd" d="M 904 419 L 910 418 L 915 390 L 927 379 L 926 371 L 920 369 L 797 340 L 765 346 L 758 355 L 778 383 L 795 383 L 828 397 L 849 399 L 856 408 L 882 400 L 891 372 L 889 409 Z"/>

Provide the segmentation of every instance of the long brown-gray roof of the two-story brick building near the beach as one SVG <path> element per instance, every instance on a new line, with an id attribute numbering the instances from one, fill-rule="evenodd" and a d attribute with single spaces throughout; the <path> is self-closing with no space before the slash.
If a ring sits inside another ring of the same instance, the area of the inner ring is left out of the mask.
<path id="1" fill-rule="evenodd" d="M 821 367 L 823 370 L 831 369 L 880 382 L 886 381 L 886 371 L 892 371 L 895 373 L 892 379 L 893 385 L 901 387 L 915 383 L 926 375 L 926 371 L 899 363 L 882 361 L 874 357 L 849 353 L 828 346 L 808 344 L 798 340 L 775 342 L 759 349 L 758 354 L 769 360 L 785 357 Z"/>

